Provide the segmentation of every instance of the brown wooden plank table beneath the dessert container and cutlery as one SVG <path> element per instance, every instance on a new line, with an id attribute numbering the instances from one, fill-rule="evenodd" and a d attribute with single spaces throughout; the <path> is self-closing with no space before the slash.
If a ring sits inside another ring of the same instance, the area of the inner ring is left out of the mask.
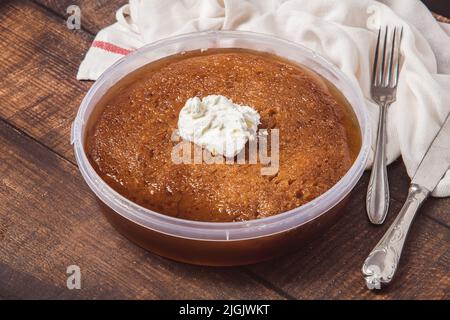
<path id="1" fill-rule="evenodd" d="M 298 252 L 258 265 L 185 265 L 114 231 L 78 172 L 69 132 L 92 85 L 75 79 L 78 65 L 123 2 L 0 4 L 0 299 L 450 298 L 450 199 L 425 204 L 392 286 L 382 293 L 364 286 L 361 264 L 406 196 L 401 161 L 389 167 L 387 224 L 366 218 L 366 173 L 340 222 Z M 78 31 L 65 25 L 73 3 L 82 10 Z M 81 268 L 80 290 L 66 287 L 72 264 Z"/>

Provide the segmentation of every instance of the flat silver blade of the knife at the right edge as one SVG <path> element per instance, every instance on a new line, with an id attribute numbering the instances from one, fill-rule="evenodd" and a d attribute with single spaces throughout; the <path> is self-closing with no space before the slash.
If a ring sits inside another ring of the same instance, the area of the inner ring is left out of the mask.
<path id="1" fill-rule="evenodd" d="M 411 181 L 432 192 L 450 167 L 450 114 L 444 122 Z"/>

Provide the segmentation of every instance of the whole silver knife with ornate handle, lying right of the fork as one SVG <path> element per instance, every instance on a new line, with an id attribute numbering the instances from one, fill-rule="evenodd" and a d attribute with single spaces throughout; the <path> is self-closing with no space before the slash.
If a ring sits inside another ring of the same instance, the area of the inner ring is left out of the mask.
<path id="1" fill-rule="evenodd" d="M 414 216 L 449 168 L 450 115 L 417 168 L 397 218 L 363 264 L 362 273 L 369 289 L 381 289 L 392 281 Z"/>

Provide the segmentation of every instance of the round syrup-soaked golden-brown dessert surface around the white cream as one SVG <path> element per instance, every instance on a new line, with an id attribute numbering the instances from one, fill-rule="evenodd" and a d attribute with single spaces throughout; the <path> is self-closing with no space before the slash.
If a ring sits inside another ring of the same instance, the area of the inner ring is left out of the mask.
<path id="1" fill-rule="evenodd" d="M 197 101 L 195 109 L 211 96 L 254 109 L 258 130 L 278 130 L 276 172 L 261 174 L 260 162 L 173 161 L 180 112 L 187 101 Z M 120 80 L 95 112 L 85 149 L 100 177 L 143 207 L 189 220 L 245 221 L 294 209 L 336 184 L 360 148 L 358 124 L 336 88 L 251 50 L 192 51 L 150 63 Z"/>

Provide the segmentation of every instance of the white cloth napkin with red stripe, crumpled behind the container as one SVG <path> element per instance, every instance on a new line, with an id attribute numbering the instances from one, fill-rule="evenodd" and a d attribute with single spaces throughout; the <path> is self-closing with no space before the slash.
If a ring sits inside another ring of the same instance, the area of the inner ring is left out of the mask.
<path id="1" fill-rule="evenodd" d="M 370 99 L 370 66 L 377 30 L 402 25 L 404 64 L 388 112 L 387 157 L 392 162 L 402 155 L 410 177 L 450 111 L 450 28 L 419 0 L 130 0 L 116 17 L 97 34 L 78 79 L 95 80 L 128 52 L 176 34 L 268 33 L 317 51 L 357 80 L 373 132 L 379 108 Z M 450 170 L 433 195 L 450 195 Z"/>

